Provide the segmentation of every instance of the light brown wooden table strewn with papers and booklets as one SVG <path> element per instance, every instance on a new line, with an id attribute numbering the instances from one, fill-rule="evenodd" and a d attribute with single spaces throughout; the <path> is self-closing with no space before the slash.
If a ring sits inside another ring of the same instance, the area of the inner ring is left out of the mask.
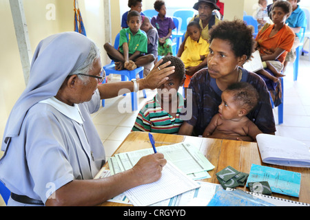
<path id="1" fill-rule="evenodd" d="M 249 173 L 251 170 L 251 164 L 258 164 L 262 166 L 271 166 L 274 168 L 280 168 L 283 170 L 290 170 L 293 172 L 301 173 L 300 184 L 300 196 L 289 197 L 273 192 L 273 197 L 280 197 L 284 199 L 290 199 L 293 201 L 300 201 L 310 203 L 310 168 L 290 167 L 290 166 L 276 166 L 271 164 L 265 164 L 260 159 L 260 153 L 258 146 L 255 142 L 242 142 L 234 140 L 222 140 L 214 138 L 204 137 L 192 137 L 185 135 L 167 135 L 161 133 L 152 133 L 156 141 L 156 146 L 176 144 L 179 142 L 191 142 L 194 146 L 197 146 L 203 155 L 207 157 L 209 162 L 215 166 L 213 170 L 208 171 L 211 178 L 203 179 L 201 181 L 207 181 L 214 184 L 220 184 L 216 178 L 216 173 L 223 170 L 227 166 L 232 166 L 236 170 Z M 146 132 L 132 132 L 130 133 L 121 146 L 114 152 L 124 153 L 128 151 L 136 151 L 143 148 L 150 148 L 150 142 L 148 133 Z M 103 169 L 107 169 L 109 166 L 106 163 Z M 103 170 L 102 169 L 102 170 Z M 100 173 L 100 172 L 99 172 Z M 249 191 L 246 186 L 238 187 L 241 190 Z M 101 206 L 124 206 L 121 203 L 105 202 Z"/>

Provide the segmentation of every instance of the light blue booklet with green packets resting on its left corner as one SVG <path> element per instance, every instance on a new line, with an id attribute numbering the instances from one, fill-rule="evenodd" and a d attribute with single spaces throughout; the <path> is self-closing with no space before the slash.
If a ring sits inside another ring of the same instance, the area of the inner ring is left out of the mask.
<path id="1" fill-rule="evenodd" d="M 272 192 L 299 197 L 301 174 L 252 164 L 247 183 L 268 181 Z"/>

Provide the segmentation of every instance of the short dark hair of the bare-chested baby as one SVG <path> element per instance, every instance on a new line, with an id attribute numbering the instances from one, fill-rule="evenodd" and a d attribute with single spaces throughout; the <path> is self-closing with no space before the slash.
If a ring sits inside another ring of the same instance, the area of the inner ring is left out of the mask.
<path id="1" fill-rule="evenodd" d="M 225 89 L 225 92 L 233 94 L 234 101 L 249 113 L 258 103 L 258 91 L 249 83 L 233 83 Z"/>

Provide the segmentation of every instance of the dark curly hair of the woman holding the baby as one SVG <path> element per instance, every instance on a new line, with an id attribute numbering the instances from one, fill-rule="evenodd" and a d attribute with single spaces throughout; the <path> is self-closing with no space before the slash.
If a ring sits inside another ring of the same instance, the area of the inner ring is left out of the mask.
<path id="1" fill-rule="evenodd" d="M 247 56 L 247 60 L 251 57 L 254 47 L 254 39 L 252 36 L 252 30 L 244 21 L 236 19 L 234 21 L 221 21 L 218 25 L 215 25 L 209 30 L 210 40 L 221 39 L 229 41 L 231 50 L 236 57 L 242 55 Z"/>

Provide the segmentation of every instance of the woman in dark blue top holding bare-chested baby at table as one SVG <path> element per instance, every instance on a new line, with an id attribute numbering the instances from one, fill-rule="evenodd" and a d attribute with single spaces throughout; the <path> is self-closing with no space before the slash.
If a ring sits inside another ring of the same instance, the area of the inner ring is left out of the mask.
<path id="1" fill-rule="evenodd" d="M 257 74 L 240 68 L 251 56 L 253 46 L 251 29 L 242 21 L 222 21 L 211 30 L 208 68 L 198 71 L 189 83 L 187 102 L 192 100 L 192 118 L 183 122 L 179 134 L 203 135 L 211 118 L 218 113 L 222 92 L 236 82 L 250 83 L 260 96 L 257 106 L 247 117 L 263 133 L 276 131 L 264 81 Z M 242 140 L 242 137 L 237 138 Z"/>

